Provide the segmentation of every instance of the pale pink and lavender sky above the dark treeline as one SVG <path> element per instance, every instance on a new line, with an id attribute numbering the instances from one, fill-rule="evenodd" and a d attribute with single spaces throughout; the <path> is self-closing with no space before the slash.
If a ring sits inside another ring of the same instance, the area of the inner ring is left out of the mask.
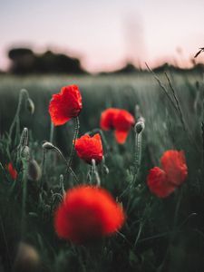
<path id="1" fill-rule="evenodd" d="M 204 1 L 0 0 L 0 69 L 22 46 L 79 57 L 92 73 L 127 62 L 189 66 L 204 47 Z"/>

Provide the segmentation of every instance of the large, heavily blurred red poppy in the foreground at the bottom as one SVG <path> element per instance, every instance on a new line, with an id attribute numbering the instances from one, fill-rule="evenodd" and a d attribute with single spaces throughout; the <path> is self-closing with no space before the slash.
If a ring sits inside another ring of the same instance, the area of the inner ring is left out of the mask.
<path id="1" fill-rule="evenodd" d="M 108 191 L 93 186 L 69 189 L 56 209 L 55 231 L 78 244 L 113 234 L 124 222 L 121 205 Z"/>

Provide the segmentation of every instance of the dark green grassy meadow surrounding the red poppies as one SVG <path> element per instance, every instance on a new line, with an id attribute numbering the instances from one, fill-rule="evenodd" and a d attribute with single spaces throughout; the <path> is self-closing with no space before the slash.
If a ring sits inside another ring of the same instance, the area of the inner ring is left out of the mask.
<path id="1" fill-rule="evenodd" d="M 100 133 L 104 156 L 95 166 L 74 153 L 72 169 L 78 181 L 74 174 L 67 175 L 63 160 L 72 152 L 74 121 L 54 127 L 51 135 L 48 112 L 53 93 L 71 84 L 79 86 L 83 98 L 78 137 Z M 27 107 L 23 95 L 16 116 L 22 89 L 34 107 Z M 201 73 L 1 75 L 0 95 L 0 271 L 204 271 Z M 112 130 L 100 128 L 101 114 L 108 108 L 130 112 L 144 127 L 132 127 L 119 144 Z M 63 158 L 53 148 L 45 150 L 45 141 L 52 141 Z M 28 147 L 29 159 L 19 152 L 22 146 Z M 160 167 L 165 151 L 184 152 L 188 175 L 160 198 L 147 179 L 153 167 Z M 15 179 L 7 167 L 10 162 Z M 99 179 L 123 208 L 123 226 L 112 236 L 83 245 L 58 238 L 53 217 L 64 191 L 78 183 L 99 185 Z"/>

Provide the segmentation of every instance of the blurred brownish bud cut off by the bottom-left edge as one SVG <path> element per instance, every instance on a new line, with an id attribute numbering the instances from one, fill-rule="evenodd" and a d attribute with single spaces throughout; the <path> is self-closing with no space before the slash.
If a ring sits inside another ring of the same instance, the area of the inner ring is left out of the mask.
<path id="1" fill-rule="evenodd" d="M 37 251 L 30 245 L 21 242 L 17 248 L 14 272 L 38 272 L 40 271 L 40 257 Z"/>

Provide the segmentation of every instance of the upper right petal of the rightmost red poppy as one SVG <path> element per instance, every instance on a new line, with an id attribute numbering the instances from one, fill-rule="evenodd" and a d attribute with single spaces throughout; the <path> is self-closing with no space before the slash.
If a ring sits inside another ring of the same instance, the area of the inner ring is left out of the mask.
<path id="1" fill-rule="evenodd" d="M 188 168 L 183 151 L 166 151 L 160 158 L 162 169 L 167 173 L 168 180 L 180 185 L 188 175 Z"/>

